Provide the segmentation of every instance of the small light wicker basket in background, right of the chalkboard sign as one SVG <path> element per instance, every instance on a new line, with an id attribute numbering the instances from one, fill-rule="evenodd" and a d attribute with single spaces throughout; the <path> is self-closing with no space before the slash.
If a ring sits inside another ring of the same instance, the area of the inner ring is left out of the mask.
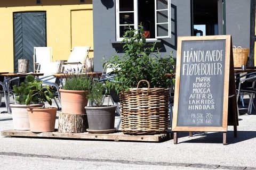
<path id="1" fill-rule="evenodd" d="M 249 53 L 249 48 L 235 47 L 233 46 L 233 57 L 234 57 L 234 67 L 241 67 L 241 65 L 247 64 L 247 57 Z"/>

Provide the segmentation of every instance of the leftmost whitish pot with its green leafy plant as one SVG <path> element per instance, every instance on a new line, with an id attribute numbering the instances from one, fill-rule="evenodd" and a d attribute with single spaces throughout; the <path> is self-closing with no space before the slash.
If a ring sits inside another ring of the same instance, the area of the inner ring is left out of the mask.
<path id="1" fill-rule="evenodd" d="M 33 75 L 27 75 L 25 81 L 20 84 L 19 87 L 14 86 L 13 91 L 17 104 L 10 104 L 12 109 L 12 121 L 14 130 L 30 130 L 28 111 L 29 107 L 42 107 L 37 96 L 33 96 L 29 105 L 26 105 L 26 98 L 29 93 L 28 83 L 35 80 Z"/>

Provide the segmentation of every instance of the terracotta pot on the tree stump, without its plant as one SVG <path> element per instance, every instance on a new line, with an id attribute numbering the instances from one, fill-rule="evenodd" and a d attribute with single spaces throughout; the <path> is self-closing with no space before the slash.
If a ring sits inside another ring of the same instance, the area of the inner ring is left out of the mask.
<path id="1" fill-rule="evenodd" d="M 68 114 L 85 114 L 87 106 L 87 94 L 89 91 L 60 89 L 61 111 Z"/>

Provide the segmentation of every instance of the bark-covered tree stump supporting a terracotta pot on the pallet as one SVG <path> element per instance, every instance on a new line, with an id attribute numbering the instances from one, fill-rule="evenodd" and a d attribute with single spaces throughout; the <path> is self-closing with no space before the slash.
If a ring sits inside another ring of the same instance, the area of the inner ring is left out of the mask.
<path id="1" fill-rule="evenodd" d="M 58 132 L 83 133 L 88 128 L 87 115 L 60 113 Z"/>

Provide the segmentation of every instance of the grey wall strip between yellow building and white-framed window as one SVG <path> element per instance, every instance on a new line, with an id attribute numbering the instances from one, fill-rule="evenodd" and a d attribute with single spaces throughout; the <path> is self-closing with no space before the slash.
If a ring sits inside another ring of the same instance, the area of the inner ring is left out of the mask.
<path id="1" fill-rule="evenodd" d="M 93 0 L 94 71 L 102 71 L 102 58 L 116 53 L 110 41 L 115 40 L 115 0 Z"/>

